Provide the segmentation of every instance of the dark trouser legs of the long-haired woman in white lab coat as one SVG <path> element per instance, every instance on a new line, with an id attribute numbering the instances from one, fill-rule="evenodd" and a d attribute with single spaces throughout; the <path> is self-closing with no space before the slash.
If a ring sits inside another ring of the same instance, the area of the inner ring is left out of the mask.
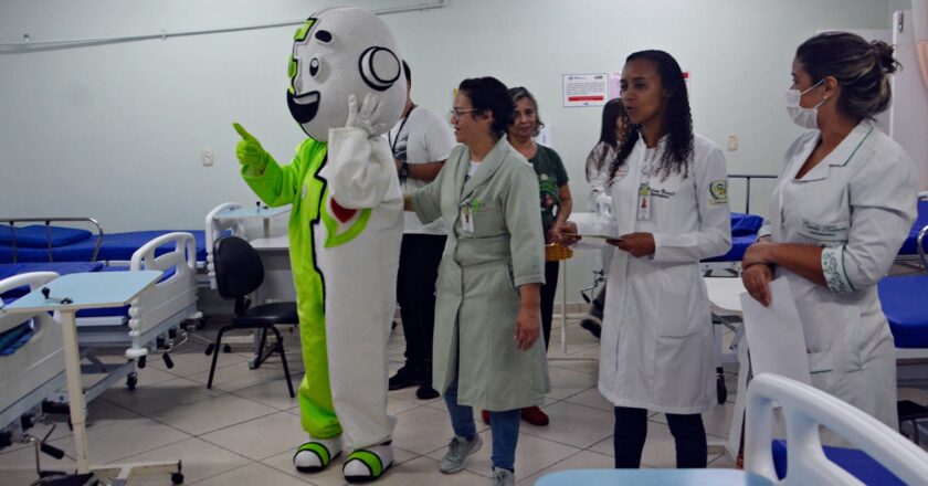
<path id="1" fill-rule="evenodd" d="M 676 443 L 678 468 L 706 467 L 708 445 L 703 415 L 699 413 L 677 415 L 667 413 L 667 424 Z M 615 408 L 615 430 L 612 443 L 615 447 L 615 468 L 641 467 L 641 453 L 647 436 L 647 410 L 628 406 Z"/>

